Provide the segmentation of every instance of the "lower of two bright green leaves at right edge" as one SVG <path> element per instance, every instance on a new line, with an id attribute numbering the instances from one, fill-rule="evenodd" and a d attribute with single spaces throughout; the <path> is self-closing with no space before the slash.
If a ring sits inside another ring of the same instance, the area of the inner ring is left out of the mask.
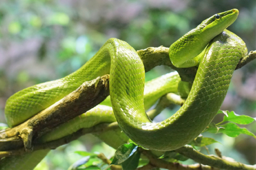
<path id="1" fill-rule="evenodd" d="M 246 135 L 250 135 L 256 139 L 256 136 L 252 132 L 250 132 L 246 128 L 240 128 L 235 123 L 231 123 L 231 122 L 226 123 L 226 124 L 221 125 L 221 127 L 222 128 L 219 129 L 218 133 L 224 133 L 224 134 L 228 135 L 229 137 L 237 137 L 240 134 L 246 134 Z"/>

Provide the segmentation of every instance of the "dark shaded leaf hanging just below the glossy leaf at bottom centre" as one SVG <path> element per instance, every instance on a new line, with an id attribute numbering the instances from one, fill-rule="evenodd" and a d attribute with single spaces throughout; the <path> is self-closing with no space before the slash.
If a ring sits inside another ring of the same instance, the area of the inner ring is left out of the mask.
<path id="1" fill-rule="evenodd" d="M 140 159 L 140 152 L 136 151 L 130 156 L 128 159 L 126 159 L 122 163 L 123 170 L 133 170 L 136 169 L 139 165 L 139 159 Z"/>

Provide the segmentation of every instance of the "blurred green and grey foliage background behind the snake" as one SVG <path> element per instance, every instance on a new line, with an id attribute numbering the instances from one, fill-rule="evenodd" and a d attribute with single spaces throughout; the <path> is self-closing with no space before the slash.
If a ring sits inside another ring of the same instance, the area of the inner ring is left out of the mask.
<path id="1" fill-rule="evenodd" d="M 256 49 L 256 1 L 254 0 L 1 0 L 0 1 L 0 122 L 5 123 L 4 105 L 13 93 L 41 82 L 62 78 L 80 68 L 111 37 L 128 42 L 136 50 L 169 47 L 204 19 L 233 8 L 239 16 L 228 29 L 240 36 L 248 51 Z M 236 70 L 222 110 L 256 117 L 255 61 Z M 158 66 L 146 80 L 168 73 Z M 161 121 L 178 107 L 156 117 Z M 218 115 L 214 122 L 220 122 Z M 246 127 L 256 133 L 256 123 Z M 255 164 L 256 141 L 251 136 L 231 138 L 208 134 L 221 144 L 210 145 L 237 161 Z M 67 169 L 81 156 L 75 151 L 115 150 L 86 135 L 51 151 L 38 169 Z M 204 149 L 202 152 L 207 153 Z M 191 162 L 187 162 L 191 163 Z"/>

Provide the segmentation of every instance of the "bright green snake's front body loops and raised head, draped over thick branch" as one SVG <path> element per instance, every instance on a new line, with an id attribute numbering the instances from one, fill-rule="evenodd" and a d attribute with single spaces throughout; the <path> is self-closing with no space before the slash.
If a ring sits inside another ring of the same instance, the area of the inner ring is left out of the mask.
<path id="1" fill-rule="evenodd" d="M 170 46 L 169 56 L 174 66 L 198 66 L 198 70 L 184 105 L 162 122 L 152 122 L 145 113 L 145 70 L 139 55 L 128 43 L 112 38 L 74 73 L 12 95 L 5 106 L 7 123 L 16 126 L 76 90 L 83 82 L 110 74 L 111 104 L 123 132 L 148 149 L 178 149 L 197 137 L 212 121 L 226 96 L 237 63 L 247 54 L 244 41 L 226 30 L 238 13 L 233 9 L 213 15 Z M 95 119 L 108 122 L 108 116 L 96 114 Z M 65 124 L 62 126 L 65 128 Z M 54 139 L 50 135 L 49 139 L 42 140 Z"/>

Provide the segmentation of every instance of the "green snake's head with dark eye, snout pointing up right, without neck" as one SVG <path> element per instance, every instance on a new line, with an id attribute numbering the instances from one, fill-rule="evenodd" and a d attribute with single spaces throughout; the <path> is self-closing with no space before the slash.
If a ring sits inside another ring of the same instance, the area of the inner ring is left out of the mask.
<path id="1" fill-rule="evenodd" d="M 237 9 L 221 12 L 205 19 L 198 27 L 201 32 L 204 32 L 205 36 L 212 35 L 215 37 L 230 26 L 236 20 L 238 14 Z"/>

